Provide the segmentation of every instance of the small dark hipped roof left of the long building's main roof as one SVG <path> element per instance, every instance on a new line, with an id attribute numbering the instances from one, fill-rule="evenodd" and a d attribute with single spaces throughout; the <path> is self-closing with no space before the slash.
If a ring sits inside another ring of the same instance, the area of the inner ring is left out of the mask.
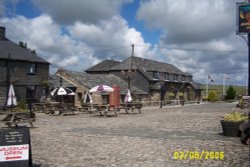
<path id="1" fill-rule="evenodd" d="M 120 63 L 119 61 L 104 60 L 98 63 L 97 65 L 90 67 L 89 69 L 86 70 L 86 72 L 95 72 L 95 71 L 108 72 L 112 67 L 114 67 L 115 65 L 119 63 Z"/>

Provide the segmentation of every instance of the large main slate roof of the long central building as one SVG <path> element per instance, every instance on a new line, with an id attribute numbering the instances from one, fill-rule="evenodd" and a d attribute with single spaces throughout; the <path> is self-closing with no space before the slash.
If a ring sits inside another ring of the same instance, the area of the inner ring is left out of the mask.
<path id="1" fill-rule="evenodd" d="M 185 75 L 191 76 L 189 73 L 185 73 L 173 66 L 172 64 L 167 64 L 163 62 L 158 62 L 154 60 L 139 58 L 139 57 L 129 57 L 123 62 L 111 68 L 111 70 L 127 70 L 131 68 L 132 61 L 132 69 L 140 69 L 144 72 L 165 72 L 169 74 L 177 74 L 177 75 Z"/>

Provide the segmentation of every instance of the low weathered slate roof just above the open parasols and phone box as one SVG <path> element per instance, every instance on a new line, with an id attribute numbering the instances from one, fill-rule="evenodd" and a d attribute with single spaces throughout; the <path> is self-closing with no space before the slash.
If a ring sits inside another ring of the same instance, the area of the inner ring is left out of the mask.
<path id="1" fill-rule="evenodd" d="M 121 89 L 121 94 L 126 94 L 128 85 L 121 78 L 113 74 L 88 74 L 83 72 L 63 70 L 70 77 L 74 78 L 76 81 L 84 85 L 85 87 L 91 89 L 96 85 L 105 84 L 108 86 L 117 85 Z M 60 75 L 60 74 L 59 74 Z M 145 91 L 140 90 L 139 88 L 132 86 L 131 92 L 134 94 L 147 94 Z"/>

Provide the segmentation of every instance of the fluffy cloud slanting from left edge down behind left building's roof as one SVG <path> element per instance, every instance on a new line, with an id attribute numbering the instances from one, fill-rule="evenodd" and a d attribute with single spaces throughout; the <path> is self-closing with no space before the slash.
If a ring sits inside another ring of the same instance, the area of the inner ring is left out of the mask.
<path id="1" fill-rule="evenodd" d="M 6 27 L 7 38 L 16 43 L 26 42 L 53 65 L 82 71 L 95 60 L 91 48 L 62 34 L 61 27 L 48 15 L 33 19 L 22 16 L 3 18 L 0 24 Z"/>

